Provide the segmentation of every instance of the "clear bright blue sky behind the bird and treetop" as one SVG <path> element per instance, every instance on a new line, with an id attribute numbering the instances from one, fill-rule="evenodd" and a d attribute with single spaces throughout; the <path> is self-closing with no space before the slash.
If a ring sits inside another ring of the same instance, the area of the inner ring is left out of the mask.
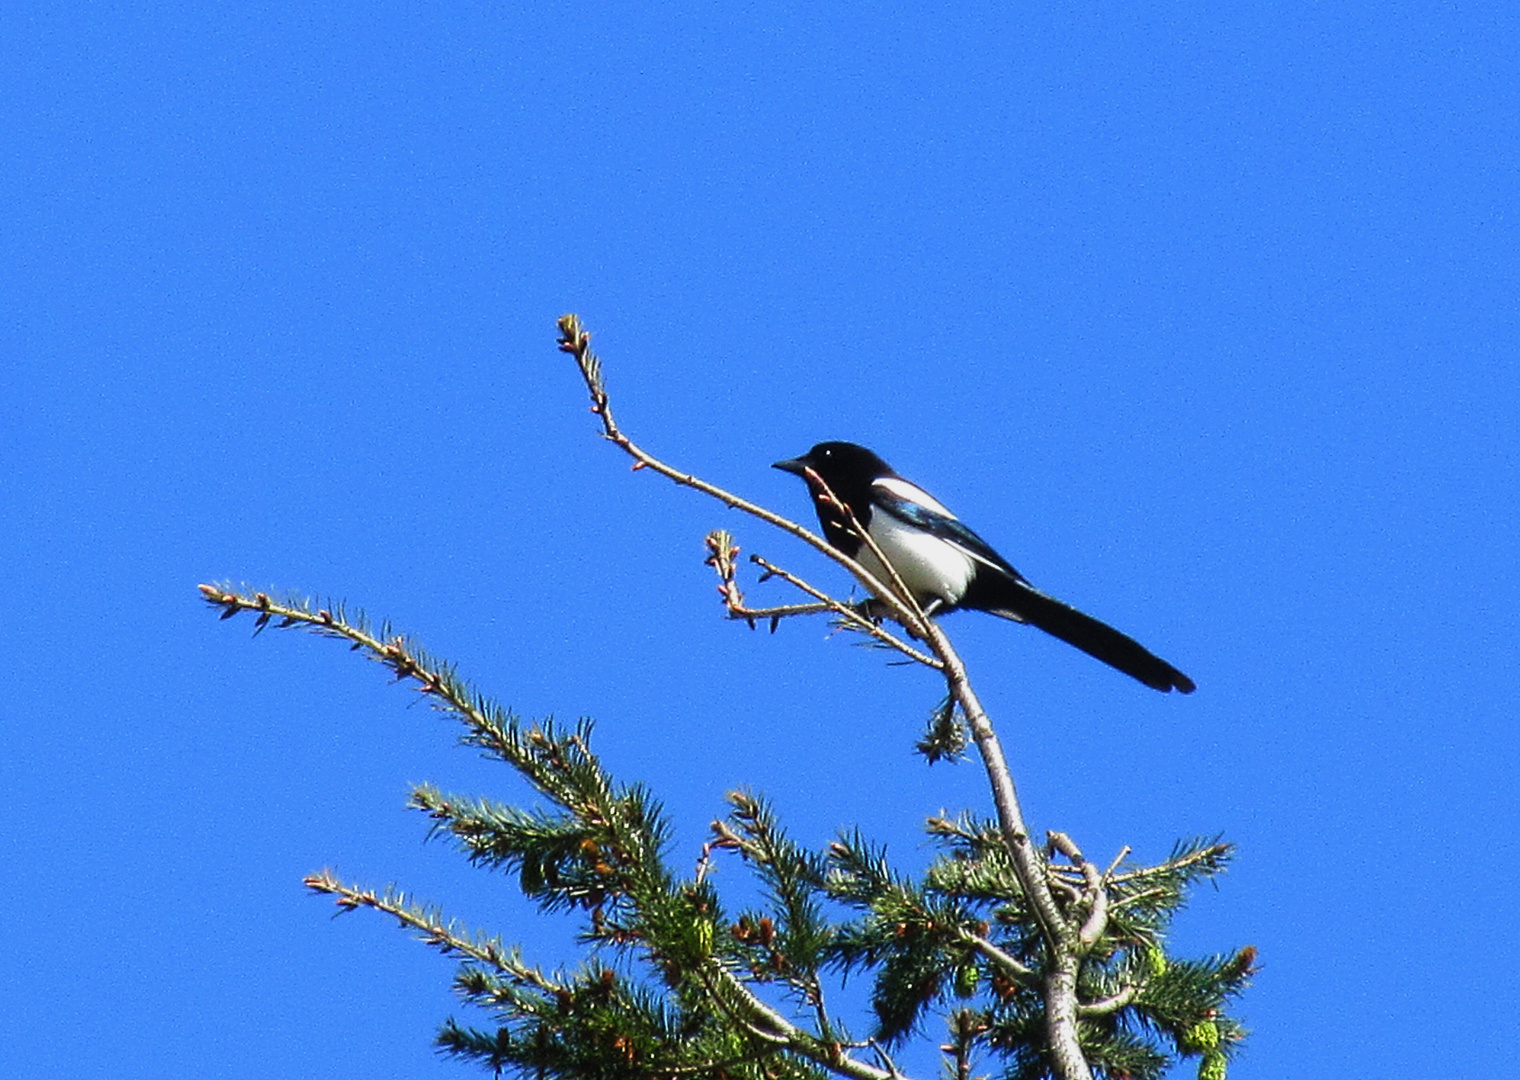
<path id="1" fill-rule="evenodd" d="M 11 1074 L 470 1075 L 450 962 L 322 866 L 565 955 L 403 810 L 514 779 L 202 580 L 596 717 L 678 861 L 737 785 L 906 864 L 985 807 L 927 674 L 720 620 L 713 527 L 844 582 L 631 475 L 564 311 L 651 451 L 806 515 L 769 462 L 868 444 L 1198 681 L 950 623 L 1032 825 L 1239 843 L 1176 934 L 1260 949 L 1234 1077 L 1509 1065 L 1511 6 L 147 8 L 0 14 Z"/>

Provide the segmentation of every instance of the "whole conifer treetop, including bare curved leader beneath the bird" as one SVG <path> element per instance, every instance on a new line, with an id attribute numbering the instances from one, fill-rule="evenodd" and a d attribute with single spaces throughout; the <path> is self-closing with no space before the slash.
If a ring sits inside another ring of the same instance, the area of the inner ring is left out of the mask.
<path id="1" fill-rule="evenodd" d="M 830 597 L 754 556 L 762 580 L 781 579 L 809 600 L 748 606 L 737 545 L 719 530 L 707 538 L 708 564 L 728 617 L 774 627 L 825 614 L 938 671 L 945 699 L 918 749 L 930 761 L 961 756 L 970 737 L 993 813 L 930 817 L 938 855 L 909 876 L 863 829 L 810 851 L 765 799 L 736 791 L 695 872 L 681 873 L 660 804 L 606 773 L 590 722 L 567 728 L 515 717 L 413 641 L 340 606 L 202 585 L 223 618 L 248 612 L 255 632 L 271 623 L 306 627 L 382 662 L 459 720 L 467 746 L 517 770 L 541 796 L 537 807 L 511 807 L 420 785 L 409 805 L 471 863 L 514 873 L 544 913 L 578 917 L 588 954 L 576 969 L 547 971 L 518 946 L 467 931 L 397 889 L 368 890 L 327 872 L 306 879 L 340 910 L 389 914 L 459 960 L 454 989 L 480 1019 L 445 1021 L 439 1050 L 535 1080 L 897 1080 L 894 1054 L 927 1036 L 956 1080 L 1151 1080 L 1183 1059 L 1196 1060 L 1199 1080 L 1224 1080 L 1245 1036 L 1227 1007 L 1248 984 L 1256 952 L 1176 957 L 1167 928 L 1189 887 L 1219 875 L 1231 848 L 1190 840 L 1158 863 L 1132 863 L 1125 849 L 1100 866 L 1062 832 L 1037 845 L 961 658 L 895 573 L 892 582 L 874 580 L 796 523 L 648 454 L 613 419 L 590 334 L 575 316 L 559 328 L 605 437 L 635 468 L 812 544 L 868 583 L 900 629 L 889 629 L 882 609 Z M 838 501 L 833 509 L 848 513 Z M 708 875 L 722 858 L 758 878 L 762 904 L 724 902 Z M 830 1004 L 842 975 L 869 980 L 871 1030 L 850 1030 Z"/>

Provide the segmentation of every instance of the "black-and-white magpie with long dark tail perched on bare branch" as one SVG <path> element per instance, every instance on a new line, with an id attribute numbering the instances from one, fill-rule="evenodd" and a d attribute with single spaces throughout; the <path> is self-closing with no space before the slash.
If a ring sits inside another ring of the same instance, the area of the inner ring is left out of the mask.
<path id="1" fill-rule="evenodd" d="M 891 583 L 876 553 L 828 504 L 822 488 L 827 485 L 882 548 L 926 614 L 968 608 L 1029 623 L 1154 690 L 1184 694 L 1196 690 L 1192 679 L 1134 638 L 1032 586 L 933 495 L 900 477 L 865 447 L 821 442 L 772 468 L 803 477 L 824 538 L 883 585 Z"/>

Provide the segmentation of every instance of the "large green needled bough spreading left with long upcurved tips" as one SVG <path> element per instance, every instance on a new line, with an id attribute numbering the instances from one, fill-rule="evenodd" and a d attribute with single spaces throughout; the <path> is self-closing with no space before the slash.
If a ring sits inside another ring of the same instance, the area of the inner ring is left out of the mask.
<path id="1" fill-rule="evenodd" d="M 445 794 L 433 785 L 412 790 L 410 805 L 432 819 L 432 834 L 451 838 L 476 864 L 511 872 L 524 896 L 544 911 L 581 914 L 584 939 L 629 975 L 605 963 L 573 974 L 544 974 L 520 951 L 464 933 L 435 908 L 397 890 L 375 893 L 331 873 L 306 884 L 334 896 L 342 911 L 369 908 L 395 917 L 424 942 L 465 963 L 454 986 L 471 1006 L 497 1018 L 492 1031 L 448 1021 L 439 1047 L 494 1069 L 521 1075 L 617 1075 L 657 1080 L 822 1077 L 891 1080 L 889 1069 L 856 1053 L 830 1021 L 818 969 L 831 928 L 818 905 L 809 857 L 748 816 L 766 851 L 762 878 L 777 908 L 748 925 L 757 940 L 780 927 L 766 946 L 777 962 L 752 965 L 755 942 L 746 924 L 730 922 L 705 879 L 682 879 L 666 864 L 670 826 L 641 785 L 616 784 L 591 752 L 591 726 L 573 729 L 543 720 L 524 723 L 470 690 L 451 667 L 388 626 L 374 629 L 337 605 L 318 608 L 204 585 L 201 592 L 225 615 L 249 612 L 255 630 L 307 627 L 339 638 L 391 668 L 465 725 L 462 743 L 512 766 L 547 805 L 520 808 Z M 725 933 L 722 927 L 728 927 Z M 616 957 L 622 957 L 616 960 Z M 762 989 L 781 980 L 798 990 L 815 1022 L 789 1019 Z M 616 1068 L 608 1074 L 610 1063 Z"/>

